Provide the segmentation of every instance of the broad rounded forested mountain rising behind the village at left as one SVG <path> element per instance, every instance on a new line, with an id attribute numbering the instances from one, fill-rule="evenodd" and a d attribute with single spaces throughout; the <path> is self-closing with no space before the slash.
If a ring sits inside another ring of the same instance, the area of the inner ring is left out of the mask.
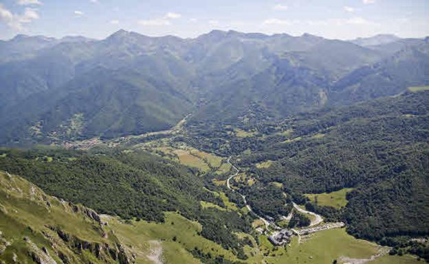
<path id="1" fill-rule="evenodd" d="M 26 106 L 33 111 L 12 111 L 4 119 L 10 125 L 2 133 L 17 134 L 19 126 L 31 126 L 34 117 L 40 120 L 39 136 L 61 139 L 166 130 L 192 108 L 175 88 L 166 78 L 151 79 L 134 69 L 94 69 L 58 88 L 54 95 L 47 92 L 30 97 Z M 76 117 L 78 127 L 71 123 Z M 21 132 L 24 137 L 32 133 Z"/>

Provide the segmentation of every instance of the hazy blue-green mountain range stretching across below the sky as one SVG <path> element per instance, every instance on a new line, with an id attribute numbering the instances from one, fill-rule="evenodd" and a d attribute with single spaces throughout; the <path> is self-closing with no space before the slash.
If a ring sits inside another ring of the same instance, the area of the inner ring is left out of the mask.
<path id="1" fill-rule="evenodd" d="M 0 42 L 0 143 L 52 143 L 194 121 L 278 119 L 429 84 L 429 38 L 351 41 L 214 30 Z"/>

